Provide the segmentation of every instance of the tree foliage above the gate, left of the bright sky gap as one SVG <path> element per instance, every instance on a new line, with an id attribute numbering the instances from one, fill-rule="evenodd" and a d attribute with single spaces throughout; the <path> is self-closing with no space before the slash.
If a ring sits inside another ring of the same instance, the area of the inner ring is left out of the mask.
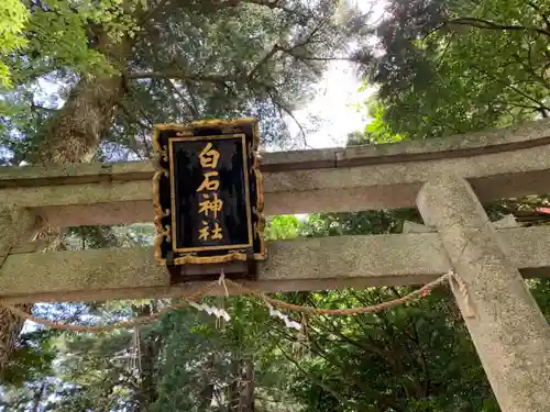
<path id="1" fill-rule="evenodd" d="M 198 118 L 254 115 L 265 143 L 293 144 L 285 119 L 311 97 L 334 53 L 363 42 L 358 30 L 342 30 L 348 21 L 334 19 L 342 5 L 333 0 L 25 4 L 26 45 L 8 62 L 14 88 L 0 99 L 0 145 L 16 164 L 35 160 L 30 154 L 70 91 L 118 75 L 123 92 L 109 102 L 117 110 L 99 136 L 100 162 L 146 158 L 153 123 Z"/>

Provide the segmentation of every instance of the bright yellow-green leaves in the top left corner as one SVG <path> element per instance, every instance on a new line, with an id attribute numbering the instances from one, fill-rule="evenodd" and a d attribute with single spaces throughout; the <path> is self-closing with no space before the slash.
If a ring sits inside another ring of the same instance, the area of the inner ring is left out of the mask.
<path id="1" fill-rule="evenodd" d="M 113 56 L 106 56 L 107 44 L 133 37 L 138 31 L 133 12 L 139 1 L 48 0 L 30 5 L 26 27 L 28 47 L 18 62 L 20 82 L 53 70 L 72 70 L 77 75 L 109 75 Z M 106 37 L 108 33 L 108 37 Z M 28 65 L 31 57 L 32 67 Z M 118 67 L 120 69 L 120 67 Z"/>

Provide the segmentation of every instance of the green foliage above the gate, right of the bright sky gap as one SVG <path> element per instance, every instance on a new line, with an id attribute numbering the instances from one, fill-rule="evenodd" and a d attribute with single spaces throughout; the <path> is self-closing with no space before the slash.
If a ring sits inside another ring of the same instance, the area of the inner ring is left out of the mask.
<path id="1" fill-rule="evenodd" d="M 442 136 L 550 114 L 547 1 L 392 0 L 388 11 L 373 30 L 377 49 L 361 58 L 394 133 Z"/>

